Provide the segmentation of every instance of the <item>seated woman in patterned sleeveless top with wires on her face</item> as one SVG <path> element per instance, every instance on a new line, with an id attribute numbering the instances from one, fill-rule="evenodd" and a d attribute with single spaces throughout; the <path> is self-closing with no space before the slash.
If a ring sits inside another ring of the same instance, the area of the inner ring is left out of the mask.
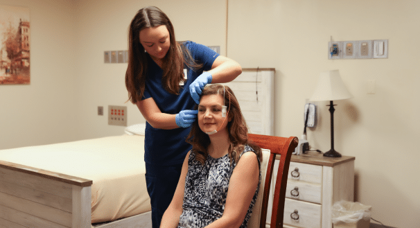
<path id="1" fill-rule="evenodd" d="M 261 149 L 247 141 L 238 100 L 227 86 L 207 85 L 193 145 L 161 227 L 247 227 L 261 182 Z"/>

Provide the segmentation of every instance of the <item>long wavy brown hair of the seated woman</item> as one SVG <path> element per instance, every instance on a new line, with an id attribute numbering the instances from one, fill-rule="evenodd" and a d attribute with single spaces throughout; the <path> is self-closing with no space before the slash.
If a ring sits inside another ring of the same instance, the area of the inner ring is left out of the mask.
<path id="1" fill-rule="evenodd" d="M 256 151 L 256 155 L 261 161 L 263 156 L 261 148 L 248 141 L 247 123 L 245 122 L 242 112 L 240 112 L 239 103 L 234 92 L 227 85 L 211 84 L 204 87 L 201 97 L 213 94 L 220 94 L 220 96 L 225 95 L 225 105 L 228 110 L 227 119 L 231 119 L 226 126 L 227 132 L 229 133 L 230 146 L 228 153 L 231 161 L 238 162 L 239 155 L 243 151 L 245 144 L 251 146 Z M 191 132 L 188 137 L 186 137 L 186 142 L 193 145 L 192 150 L 196 154 L 195 159 L 204 164 L 207 155 L 209 155 L 208 148 L 210 145 L 210 138 L 208 134 L 202 132 L 198 126 L 198 121 L 194 121 L 191 126 Z"/>

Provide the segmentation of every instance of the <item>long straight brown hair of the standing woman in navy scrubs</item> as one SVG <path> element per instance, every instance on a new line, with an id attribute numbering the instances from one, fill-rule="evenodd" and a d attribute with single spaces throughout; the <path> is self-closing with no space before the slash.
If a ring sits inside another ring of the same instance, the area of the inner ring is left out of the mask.
<path id="1" fill-rule="evenodd" d="M 148 53 L 144 51 L 143 45 L 140 43 L 140 31 L 144 28 L 161 25 L 166 26 L 170 36 L 170 47 L 162 61 L 164 89 L 171 94 L 179 94 L 180 82 L 185 82 L 184 64 L 193 70 L 202 67 L 202 64 L 193 60 L 186 46 L 175 40 L 173 25 L 164 12 L 155 6 L 141 8 L 132 19 L 128 32 L 128 67 L 125 72 L 125 87 L 127 87 L 128 97 L 132 103 L 137 103 L 144 94 L 149 64 Z"/>

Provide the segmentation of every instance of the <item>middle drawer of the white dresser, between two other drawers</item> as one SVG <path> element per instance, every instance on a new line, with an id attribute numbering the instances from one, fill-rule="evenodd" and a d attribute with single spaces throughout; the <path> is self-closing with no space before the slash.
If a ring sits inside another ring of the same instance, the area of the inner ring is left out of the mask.
<path id="1" fill-rule="evenodd" d="M 321 204 L 322 186 L 308 182 L 288 180 L 286 186 L 286 198 L 303 200 Z"/>

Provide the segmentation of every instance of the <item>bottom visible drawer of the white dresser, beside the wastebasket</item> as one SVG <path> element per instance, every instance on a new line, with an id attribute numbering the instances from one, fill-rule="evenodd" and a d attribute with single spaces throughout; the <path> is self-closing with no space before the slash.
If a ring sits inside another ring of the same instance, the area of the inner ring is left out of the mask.
<path id="1" fill-rule="evenodd" d="M 321 210 L 320 204 L 286 198 L 283 223 L 293 227 L 321 227 Z"/>

